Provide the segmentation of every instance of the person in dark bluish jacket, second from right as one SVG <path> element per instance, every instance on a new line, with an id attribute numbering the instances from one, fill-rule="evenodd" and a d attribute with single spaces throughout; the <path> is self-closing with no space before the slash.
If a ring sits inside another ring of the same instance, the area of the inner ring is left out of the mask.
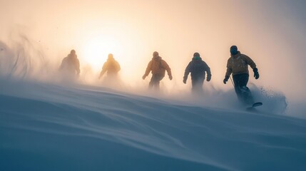
<path id="1" fill-rule="evenodd" d="M 186 83 L 188 75 L 191 75 L 192 90 L 202 91 L 203 83 L 205 80 L 205 72 L 207 73 L 206 81 L 210 81 L 211 73 L 210 68 L 205 61 L 200 57 L 200 53 L 195 52 L 193 54 L 193 59 L 188 63 L 188 66 L 185 68 L 185 74 L 183 77 L 183 83 Z"/>

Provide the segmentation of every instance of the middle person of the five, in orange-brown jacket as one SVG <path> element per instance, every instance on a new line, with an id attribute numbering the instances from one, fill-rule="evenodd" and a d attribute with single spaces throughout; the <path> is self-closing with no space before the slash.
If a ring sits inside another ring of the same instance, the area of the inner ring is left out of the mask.
<path id="1" fill-rule="evenodd" d="M 168 63 L 163 61 L 157 51 L 153 52 L 153 58 L 148 63 L 146 73 L 143 75 L 143 80 L 146 79 L 146 76 L 149 75 L 150 71 L 152 73 L 152 78 L 149 83 L 149 88 L 159 89 L 159 83 L 165 76 L 165 71 L 167 71 L 169 79 L 172 80 L 171 69 L 168 66 Z"/>

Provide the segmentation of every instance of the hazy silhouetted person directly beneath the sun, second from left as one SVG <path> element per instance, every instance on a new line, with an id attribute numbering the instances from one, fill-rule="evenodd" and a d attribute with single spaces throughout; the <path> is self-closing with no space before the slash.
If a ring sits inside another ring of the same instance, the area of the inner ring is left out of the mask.
<path id="1" fill-rule="evenodd" d="M 119 63 L 113 58 L 113 54 L 109 53 L 107 61 L 103 64 L 99 79 L 104 75 L 104 73 L 106 73 L 109 78 L 117 78 L 120 70 L 121 67 Z"/>

